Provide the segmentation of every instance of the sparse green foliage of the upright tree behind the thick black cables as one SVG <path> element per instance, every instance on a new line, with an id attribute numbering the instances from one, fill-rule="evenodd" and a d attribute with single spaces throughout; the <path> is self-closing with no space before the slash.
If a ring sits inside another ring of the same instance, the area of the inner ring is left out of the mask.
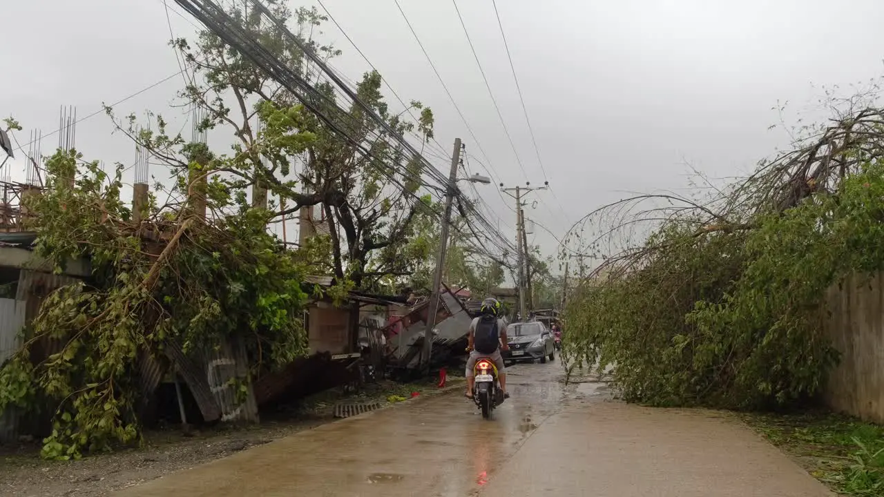
<path id="1" fill-rule="evenodd" d="M 331 45 L 317 42 L 327 18 L 315 7 L 292 10 L 286 2 L 274 2 L 269 8 L 293 26 L 300 43 L 325 58 L 340 54 Z M 422 166 L 408 157 L 398 140 L 409 133 L 418 134 L 423 142 L 431 140 L 432 111 L 413 101 L 408 109 L 392 112 L 381 91 L 381 75 L 376 71 L 363 74 L 354 83 L 355 91 L 391 133 L 361 105 L 338 102 L 331 84 L 317 73 L 298 43 L 280 37 L 278 27 L 262 22 L 257 11 L 244 12 L 234 6 L 229 12 L 273 57 L 305 80 L 319 81 L 316 90 L 325 98 L 316 98 L 312 104 L 350 140 L 317 116 L 303 115 L 294 105 L 297 96 L 210 32 L 201 32 L 194 42 L 171 42 L 194 67 L 193 84 L 182 96 L 208 110 L 200 126 L 232 127 L 238 161 L 227 169 L 240 177 L 241 186 L 261 184 L 278 196 L 286 208 L 274 212 L 275 217 L 302 206 L 316 206 L 324 213 L 331 228 L 325 243 L 330 250 L 329 264 L 323 267 L 326 273 L 362 289 L 398 287 L 400 278 L 414 270 L 415 259 L 403 250 L 414 233 L 411 225 L 425 215 L 421 203 L 411 198 L 421 187 Z M 413 110 L 419 111 L 416 116 Z M 293 119 L 286 119 L 289 113 Z M 254 126 L 255 114 L 263 123 L 260 132 Z M 148 148 L 162 152 L 164 143 L 156 145 Z M 362 148 L 373 157 L 364 157 Z M 289 180 L 290 175 L 296 180 Z"/>

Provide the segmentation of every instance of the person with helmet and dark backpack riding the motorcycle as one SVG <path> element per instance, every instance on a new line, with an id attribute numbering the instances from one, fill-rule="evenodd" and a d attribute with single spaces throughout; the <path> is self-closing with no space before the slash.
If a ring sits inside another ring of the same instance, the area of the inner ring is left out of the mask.
<path id="1" fill-rule="evenodd" d="M 475 371 L 473 370 L 476 368 L 476 361 L 480 357 L 487 357 L 497 367 L 500 390 L 503 391 L 504 398 L 508 399 L 507 373 L 504 371 L 503 356 L 501 356 L 500 350 L 509 350 L 509 345 L 507 345 L 507 323 L 499 317 L 500 302 L 489 297 L 482 301 L 480 312 L 481 316 L 474 318 L 469 324 L 467 338 L 469 359 L 467 359 L 466 371 L 467 398 L 473 398 L 473 387 L 476 385 L 476 378 L 473 376 Z"/>

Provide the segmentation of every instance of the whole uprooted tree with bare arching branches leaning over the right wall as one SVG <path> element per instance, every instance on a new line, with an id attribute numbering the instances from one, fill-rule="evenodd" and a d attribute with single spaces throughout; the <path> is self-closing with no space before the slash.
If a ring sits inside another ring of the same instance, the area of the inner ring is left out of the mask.
<path id="1" fill-rule="evenodd" d="M 591 213 L 598 231 L 583 237 L 603 262 L 570 297 L 565 353 L 613 367 L 629 401 L 811 398 L 837 361 L 827 290 L 884 269 L 882 156 L 884 111 L 865 108 L 711 198 L 645 195 Z"/>

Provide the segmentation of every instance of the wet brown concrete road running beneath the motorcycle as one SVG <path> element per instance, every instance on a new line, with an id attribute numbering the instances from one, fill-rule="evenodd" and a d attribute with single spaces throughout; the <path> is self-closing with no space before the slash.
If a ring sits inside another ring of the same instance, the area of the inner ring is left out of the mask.
<path id="1" fill-rule="evenodd" d="M 484 421 L 461 392 L 409 401 L 182 471 L 121 497 L 830 495 L 728 417 L 606 401 L 560 364 L 508 369 Z"/>

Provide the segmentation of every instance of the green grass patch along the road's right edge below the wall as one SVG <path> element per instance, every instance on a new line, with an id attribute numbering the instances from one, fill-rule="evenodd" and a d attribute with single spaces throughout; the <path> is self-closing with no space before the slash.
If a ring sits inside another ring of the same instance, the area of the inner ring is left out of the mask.
<path id="1" fill-rule="evenodd" d="M 884 496 L 884 427 L 821 411 L 744 419 L 834 492 Z"/>

